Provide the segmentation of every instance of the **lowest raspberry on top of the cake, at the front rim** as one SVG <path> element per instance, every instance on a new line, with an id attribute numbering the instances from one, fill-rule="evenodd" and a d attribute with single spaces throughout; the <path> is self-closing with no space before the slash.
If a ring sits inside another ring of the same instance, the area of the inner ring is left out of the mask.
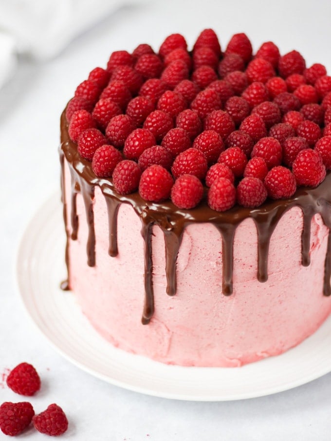
<path id="1" fill-rule="evenodd" d="M 236 189 L 229 179 L 215 179 L 208 191 L 208 205 L 212 210 L 225 212 L 236 203 Z"/>

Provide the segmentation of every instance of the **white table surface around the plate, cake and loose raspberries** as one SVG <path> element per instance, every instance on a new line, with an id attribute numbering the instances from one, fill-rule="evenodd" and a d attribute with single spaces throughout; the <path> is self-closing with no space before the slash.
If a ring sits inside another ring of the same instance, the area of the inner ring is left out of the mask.
<path id="1" fill-rule="evenodd" d="M 130 51 L 141 42 L 157 49 L 174 32 L 192 46 L 203 28 L 212 27 L 223 48 L 231 35 L 246 32 L 255 50 L 273 40 L 281 53 L 297 49 L 308 66 L 322 62 L 331 72 L 330 1 L 260 3 L 168 0 L 125 6 L 54 60 L 36 65 L 21 59 L 15 77 L 0 90 L 0 402 L 24 400 L 7 388 L 3 373 L 22 361 L 32 363 L 42 378 L 42 389 L 31 399 L 37 412 L 55 402 L 67 413 L 70 426 L 61 439 L 331 439 L 331 373 L 292 390 L 234 402 L 184 402 L 131 392 L 62 358 L 27 317 L 16 288 L 20 237 L 37 208 L 59 188 L 59 115 L 75 87 L 95 66 L 105 66 L 113 50 Z M 21 438 L 46 439 L 32 428 Z"/>

